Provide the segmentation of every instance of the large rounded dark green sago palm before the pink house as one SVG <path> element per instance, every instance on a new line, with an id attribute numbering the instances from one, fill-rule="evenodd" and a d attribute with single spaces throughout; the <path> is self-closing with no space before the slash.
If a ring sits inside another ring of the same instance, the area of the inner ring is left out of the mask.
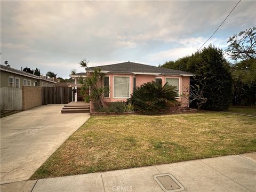
<path id="1" fill-rule="evenodd" d="M 177 105 L 177 87 L 165 83 L 148 82 L 134 90 L 131 95 L 131 102 L 135 109 L 143 113 L 155 113 L 159 110 L 166 110 L 167 103 Z"/>

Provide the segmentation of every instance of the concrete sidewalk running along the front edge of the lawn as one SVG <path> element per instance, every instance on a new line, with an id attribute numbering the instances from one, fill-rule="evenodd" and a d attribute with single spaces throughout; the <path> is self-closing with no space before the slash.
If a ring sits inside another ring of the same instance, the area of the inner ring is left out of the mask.
<path id="1" fill-rule="evenodd" d="M 154 175 L 171 174 L 181 187 L 175 188 L 170 178 Z M 175 188 L 174 190 L 171 187 Z M 167 188 L 167 189 L 166 189 Z M 1 185 L 1 191 L 256 191 L 256 152 L 214 157 L 195 161 L 138 167 L 60 178 L 20 181 Z"/>

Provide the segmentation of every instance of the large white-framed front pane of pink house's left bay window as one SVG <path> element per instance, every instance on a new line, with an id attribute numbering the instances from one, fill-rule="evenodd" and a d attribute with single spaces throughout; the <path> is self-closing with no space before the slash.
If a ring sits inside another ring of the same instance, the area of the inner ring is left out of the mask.
<path id="1" fill-rule="evenodd" d="M 130 77 L 114 77 L 114 98 L 129 98 Z"/>

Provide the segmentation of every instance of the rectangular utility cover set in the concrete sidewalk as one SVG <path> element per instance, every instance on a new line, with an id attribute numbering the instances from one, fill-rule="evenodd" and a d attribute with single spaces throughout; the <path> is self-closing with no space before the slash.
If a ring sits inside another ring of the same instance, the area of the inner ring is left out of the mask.
<path id="1" fill-rule="evenodd" d="M 154 175 L 158 185 L 166 192 L 182 191 L 184 187 L 171 174 Z"/>

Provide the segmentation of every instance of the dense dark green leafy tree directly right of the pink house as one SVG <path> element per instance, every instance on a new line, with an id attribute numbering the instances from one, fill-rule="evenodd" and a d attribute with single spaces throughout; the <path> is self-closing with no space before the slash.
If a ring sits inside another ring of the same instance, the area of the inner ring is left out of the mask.
<path id="1" fill-rule="evenodd" d="M 227 110 L 232 95 L 232 78 L 230 67 L 223 57 L 221 49 L 209 45 L 195 54 L 164 63 L 162 67 L 185 70 L 195 74 L 195 78 L 207 79 L 204 87 L 204 98 L 207 102 L 202 108 L 212 110 Z M 195 82 L 191 78 L 191 84 Z M 193 104 L 192 104 L 193 105 Z"/>

